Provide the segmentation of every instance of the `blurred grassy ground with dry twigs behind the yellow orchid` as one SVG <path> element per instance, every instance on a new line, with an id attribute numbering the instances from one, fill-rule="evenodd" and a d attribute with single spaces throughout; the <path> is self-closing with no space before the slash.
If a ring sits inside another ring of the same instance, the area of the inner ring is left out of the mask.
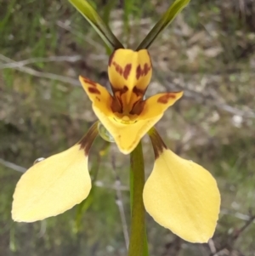
<path id="1" fill-rule="evenodd" d="M 90 3 L 129 48 L 170 5 Z M 191 1 L 151 46 L 148 95 L 184 90 L 157 128 L 173 151 L 212 172 L 222 207 L 208 245 L 184 242 L 147 216 L 150 255 L 255 255 L 254 51 L 254 0 Z M 66 0 L 0 0 L 1 256 L 126 255 L 129 160 L 102 139 L 90 153 L 88 200 L 34 224 L 10 217 L 19 171 L 70 147 L 96 120 L 77 77 L 109 86 L 107 61 L 101 39 Z M 148 176 L 153 152 L 147 137 L 144 157 Z"/>

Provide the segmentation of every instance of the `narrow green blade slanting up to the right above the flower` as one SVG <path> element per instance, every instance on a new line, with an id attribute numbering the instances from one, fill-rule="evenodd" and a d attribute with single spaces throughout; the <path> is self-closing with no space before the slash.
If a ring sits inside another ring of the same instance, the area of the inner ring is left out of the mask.
<path id="1" fill-rule="evenodd" d="M 137 50 L 142 48 L 149 48 L 150 44 L 154 42 L 156 37 L 163 31 L 176 17 L 176 15 L 184 9 L 184 7 L 190 3 L 190 0 L 176 0 L 167 9 L 167 12 L 161 16 L 161 19 L 156 23 L 156 25 L 151 29 L 149 34 L 144 38 L 143 42 L 139 44 Z"/>

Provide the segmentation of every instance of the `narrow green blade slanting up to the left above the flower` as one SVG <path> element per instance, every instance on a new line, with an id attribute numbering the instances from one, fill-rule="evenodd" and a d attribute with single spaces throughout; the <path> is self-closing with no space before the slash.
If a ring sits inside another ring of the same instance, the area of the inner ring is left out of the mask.
<path id="1" fill-rule="evenodd" d="M 115 37 L 109 26 L 99 17 L 99 14 L 86 0 L 69 0 L 70 3 L 85 17 L 93 26 L 94 30 L 104 40 L 108 48 L 124 48 L 122 43 Z"/>

